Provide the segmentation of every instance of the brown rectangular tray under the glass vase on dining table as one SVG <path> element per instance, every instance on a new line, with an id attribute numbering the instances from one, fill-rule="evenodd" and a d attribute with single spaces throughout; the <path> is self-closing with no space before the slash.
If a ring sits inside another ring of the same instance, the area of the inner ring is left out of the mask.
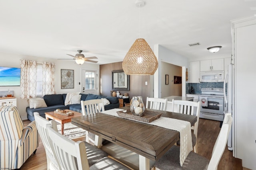
<path id="1" fill-rule="evenodd" d="M 157 113 L 157 112 L 154 112 L 154 111 L 145 110 L 143 112 L 142 116 L 136 116 L 136 115 L 132 114 L 130 109 L 126 109 L 126 110 L 122 110 L 122 111 L 117 111 L 116 113 L 120 117 L 125 117 L 125 118 L 128 118 L 128 119 L 134 119 L 134 120 L 138 120 L 138 121 L 143 121 L 143 122 L 146 122 L 146 123 L 150 123 L 150 122 L 158 119 L 162 115 L 162 113 Z"/>

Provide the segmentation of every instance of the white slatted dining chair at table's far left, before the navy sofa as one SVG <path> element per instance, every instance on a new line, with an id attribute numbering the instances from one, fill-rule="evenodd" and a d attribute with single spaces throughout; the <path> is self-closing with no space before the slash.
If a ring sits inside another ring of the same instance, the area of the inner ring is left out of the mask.
<path id="1" fill-rule="evenodd" d="M 85 101 L 81 100 L 81 107 L 83 115 L 90 115 L 98 113 L 99 111 L 105 111 L 103 98 Z M 86 142 L 89 143 L 90 141 L 94 143 L 95 146 L 100 148 L 102 143 L 104 143 L 106 140 L 102 139 L 98 135 L 86 131 Z"/>

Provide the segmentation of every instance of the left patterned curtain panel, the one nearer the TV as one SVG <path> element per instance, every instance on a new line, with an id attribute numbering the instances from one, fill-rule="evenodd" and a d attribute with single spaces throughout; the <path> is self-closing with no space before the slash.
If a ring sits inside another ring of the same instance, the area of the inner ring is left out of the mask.
<path id="1" fill-rule="evenodd" d="M 36 70 L 36 61 L 22 60 L 20 62 L 20 98 L 36 97 Z"/>

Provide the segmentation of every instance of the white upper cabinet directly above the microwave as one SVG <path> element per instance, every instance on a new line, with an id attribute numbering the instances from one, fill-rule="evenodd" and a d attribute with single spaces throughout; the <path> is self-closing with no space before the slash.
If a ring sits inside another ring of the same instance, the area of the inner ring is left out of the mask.
<path id="1" fill-rule="evenodd" d="M 200 61 L 200 71 L 219 71 L 219 70 L 224 70 L 224 59 Z"/>

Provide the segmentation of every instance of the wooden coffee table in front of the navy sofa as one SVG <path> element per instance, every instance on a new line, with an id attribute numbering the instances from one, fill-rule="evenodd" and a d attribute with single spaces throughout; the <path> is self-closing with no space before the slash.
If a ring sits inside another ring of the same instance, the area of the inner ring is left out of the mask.
<path id="1" fill-rule="evenodd" d="M 49 118 L 50 118 L 50 119 L 55 120 L 56 122 L 61 124 L 61 134 L 62 135 L 64 134 L 64 123 L 71 122 L 71 118 L 73 118 L 73 117 L 82 116 L 82 113 L 79 113 L 79 112 L 76 112 L 76 111 L 73 111 L 73 110 L 69 110 L 69 109 L 64 109 L 64 110 L 68 111 L 68 112 L 69 111 L 73 112 L 74 115 L 64 116 L 64 115 L 54 113 L 54 111 L 45 112 L 45 118 L 47 120 L 49 120 Z"/>

